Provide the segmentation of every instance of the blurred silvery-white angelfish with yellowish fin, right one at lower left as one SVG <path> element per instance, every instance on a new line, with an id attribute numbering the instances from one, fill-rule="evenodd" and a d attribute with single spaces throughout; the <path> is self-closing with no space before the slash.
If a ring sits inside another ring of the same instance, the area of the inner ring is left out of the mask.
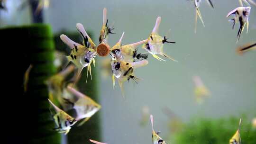
<path id="1" fill-rule="evenodd" d="M 78 126 L 82 126 L 86 121 L 88 121 L 91 116 L 93 116 L 97 111 L 101 109 L 101 105 L 96 103 L 94 100 L 88 96 L 82 94 L 81 92 L 73 89 L 68 86 L 67 90 L 76 97 L 76 101 L 70 101 L 69 99 L 64 99 L 67 103 L 73 106 L 73 109 L 76 111 L 75 119 L 82 120 Z"/>

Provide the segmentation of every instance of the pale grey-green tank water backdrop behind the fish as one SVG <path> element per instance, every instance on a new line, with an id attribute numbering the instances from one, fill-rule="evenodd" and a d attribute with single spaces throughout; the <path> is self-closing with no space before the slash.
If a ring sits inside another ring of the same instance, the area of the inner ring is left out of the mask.
<path id="1" fill-rule="evenodd" d="M 164 50 L 179 63 L 159 62 L 149 55 L 149 64 L 136 71 L 143 80 L 138 85 L 131 81 L 125 84 L 125 99 L 118 87 L 112 89 L 110 78 L 107 81 L 101 79 L 103 142 L 130 144 L 134 140 L 137 144 L 151 143 L 150 124 L 139 126 L 143 106 L 150 108 L 155 117 L 155 130 L 161 130 L 163 138 L 168 136 L 169 118 L 162 112 L 165 106 L 183 121 L 199 116 L 239 117 L 243 112 L 251 114 L 250 111 L 255 111 L 256 52 L 239 56 L 235 49 L 255 41 L 256 7 L 251 6 L 249 33 L 246 35 L 245 30 L 236 44 L 238 25 L 232 30 L 226 15 L 238 7 L 238 0 L 212 1 L 215 9 L 202 1 L 201 13 L 206 27 L 198 21 L 197 34 L 194 34 L 194 5 L 186 0 L 51 0 L 45 20 L 53 26 L 54 32 L 62 29 L 76 31 L 75 24 L 81 22 L 93 32 L 97 43 L 102 9 L 106 7 L 110 25 L 115 22 L 116 35 L 110 35 L 110 45 L 119 40 L 123 31 L 123 44 L 146 39 L 157 16 L 162 17 L 160 34 L 164 36 L 171 29 L 169 37 L 176 41 L 174 45 L 165 45 Z M 145 51 L 139 49 L 139 52 Z M 97 61 L 96 66 L 99 66 Z M 212 94 L 202 105 L 197 105 L 194 99 L 193 75 L 201 76 Z"/>

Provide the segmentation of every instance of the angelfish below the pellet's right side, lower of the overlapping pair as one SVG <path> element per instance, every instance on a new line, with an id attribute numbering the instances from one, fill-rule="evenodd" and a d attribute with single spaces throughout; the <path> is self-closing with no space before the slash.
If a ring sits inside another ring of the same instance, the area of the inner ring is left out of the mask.
<path id="1" fill-rule="evenodd" d="M 110 63 L 111 63 L 111 68 L 113 73 L 112 75 L 113 87 L 115 87 L 115 77 L 116 77 L 118 79 L 119 86 L 122 91 L 122 95 L 124 96 L 123 83 L 125 81 L 129 81 L 130 79 L 138 83 L 140 79 L 134 75 L 134 69 L 147 65 L 148 61 L 142 60 L 139 62 L 129 63 L 124 61 L 118 62 L 117 60 L 110 60 Z"/>

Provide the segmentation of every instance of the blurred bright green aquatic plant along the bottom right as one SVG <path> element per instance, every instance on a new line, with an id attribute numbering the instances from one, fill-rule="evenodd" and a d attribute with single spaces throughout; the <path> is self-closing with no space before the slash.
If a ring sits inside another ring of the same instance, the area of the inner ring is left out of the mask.
<path id="1" fill-rule="evenodd" d="M 242 117 L 240 129 L 242 144 L 256 143 L 256 130 L 251 119 Z M 172 134 L 174 144 L 229 144 L 229 139 L 238 129 L 239 118 L 195 118 Z"/>

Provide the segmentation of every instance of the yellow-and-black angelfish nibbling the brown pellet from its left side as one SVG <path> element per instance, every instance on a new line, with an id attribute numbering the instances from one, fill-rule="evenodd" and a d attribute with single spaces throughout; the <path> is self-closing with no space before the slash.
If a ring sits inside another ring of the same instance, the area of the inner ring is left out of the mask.
<path id="1" fill-rule="evenodd" d="M 61 40 L 70 47 L 71 54 L 67 56 L 68 61 L 72 62 L 78 68 L 78 76 L 81 74 L 82 69 L 87 67 L 87 78 L 88 73 L 91 75 L 91 63 L 95 64 L 94 58 L 96 57 L 96 45 L 92 42 L 90 36 L 86 33 L 81 23 L 76 24 L 77 30 L 83 37 L 83 45 L 78 44 L 68 38 L 66 35 L 61 35 Z M 68 64 L 68 63 L 67 63 Z M 66 65 L 67 65 L 66 64 Z M 78 81 L 78 78 L 74 81 L 74 84 Z M 86 78 L 86 81 L 87 81 Z M 92 79 L 92 77 L 91 77 Z"/>

